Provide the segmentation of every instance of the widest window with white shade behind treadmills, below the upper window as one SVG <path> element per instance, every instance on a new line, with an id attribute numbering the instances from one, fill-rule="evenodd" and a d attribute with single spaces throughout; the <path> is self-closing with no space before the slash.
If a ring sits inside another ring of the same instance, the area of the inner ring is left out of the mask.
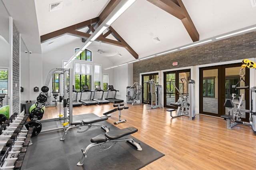
<path id="1" fill-rule="evenodd" d="M 91 89 L 92 65 L 87 63 L 75 63 L 75 89 L 81 91 L 83 85 Z"/>

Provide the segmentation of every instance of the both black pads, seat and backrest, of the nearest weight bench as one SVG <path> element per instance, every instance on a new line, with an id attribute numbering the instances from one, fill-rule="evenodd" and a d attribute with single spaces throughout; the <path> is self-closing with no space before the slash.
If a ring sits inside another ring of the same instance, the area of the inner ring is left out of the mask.
<path id="1" fill-rule="evenodd" d="M 95 136 L 94 138 L 91 139 L 91 142 L 106 142 L 107 138 L 110 140 L 118 139 L 123 136 L 126 136 L 128 134 L 132 134 L 137 132 L 138 129 L 135 127 L 128 127 L 128 128 L 123 128 L 123 129 L 118 129 L 118 130 L 112 130 L 109 132 L 105 133 L 105 136 L 103 134 L 99 134 L 98 136 Z"/>

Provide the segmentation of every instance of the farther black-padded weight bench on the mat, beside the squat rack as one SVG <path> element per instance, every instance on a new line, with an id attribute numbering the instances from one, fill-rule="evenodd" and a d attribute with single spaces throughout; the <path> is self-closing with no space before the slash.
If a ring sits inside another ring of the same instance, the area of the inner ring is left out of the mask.
<path id="1" fill-rule="evenodd" d="M 102 117 L 83 119 L 82 121 L 72 122 L 72 123 L 70 123 L 70 126 L 66 130 L 64 130 L 64 134 L 63 134 L 62 138 L 60 138 L 60 140 L 65 140 L 68 130 L 71 128 L 75 128 L 75 127 L 79 128 L 79 127 L 83 127 L 83 126 L 88 126 L 88 128 L 85 130 L 77 131 L 78 133 L 86 132 L 91 127 L 100 127 L 103 130 L 105 130 L 106 132 L 108 132 L 109 129 L 107 127 L 105 127 L 104 125 L 93 124 L 93 123 L 100 122 L 100 121 L 106 121 L 107 119 L 108 119 L 108 117 L 102 116 Z"/>

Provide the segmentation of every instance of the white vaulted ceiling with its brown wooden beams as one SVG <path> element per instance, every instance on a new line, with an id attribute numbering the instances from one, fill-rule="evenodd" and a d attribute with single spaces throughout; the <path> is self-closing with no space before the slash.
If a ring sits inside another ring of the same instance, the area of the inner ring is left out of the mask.
<path id="1" fill-rule="evenodd" d="M 121 0 L 62 0 L 62 8 L 52 12 L 50 4 L 60 1 L 2 1 L 28 49 L 47 53 L 86 40 Z M 114 64 L 140 59 L 255 26 L 252 5 L 251 0 L 136 0 L 88 49 Z"/>

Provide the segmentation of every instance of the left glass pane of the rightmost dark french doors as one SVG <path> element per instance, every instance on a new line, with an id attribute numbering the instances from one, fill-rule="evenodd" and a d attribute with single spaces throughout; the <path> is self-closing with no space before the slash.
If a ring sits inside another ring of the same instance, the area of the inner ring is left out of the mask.
<path id="1" fill-rule="evenodd" d="M 218 69 L 203 70 L 203 112 L 218 114 Z"/>

